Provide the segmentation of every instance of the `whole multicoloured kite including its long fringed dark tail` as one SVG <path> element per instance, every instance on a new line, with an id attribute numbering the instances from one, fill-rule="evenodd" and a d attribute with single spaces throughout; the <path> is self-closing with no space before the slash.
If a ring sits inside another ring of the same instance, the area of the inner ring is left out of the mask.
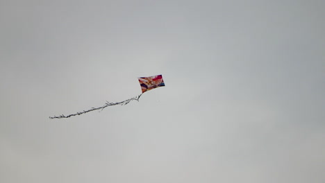
<path id="1" fill-rule="evenodd" d="M 157 87 L 165 87 L 165 82 L 163 80 L 163 76 L 162 75 L 157 75 L 157 76 L 149 76 L 149 77 L 141 77 L 138 78 L 139 82 L 140 82 L 140 86 L 141 86 L 141 90 L 142 90 L 142 94 L 144 92 L 147 92 L 151 89 L 155 89 Z M 50 116 L 50 119 L 62 119 L 62 118 L 69 118 L 71 116 L 76 116 L 76 115 L 81 115 L 81 114 L 85 114 L 87 112 L 92 112 L 94 110 L 103 110 L 108 106 L 113 106 L 113 105 L 126 105 L 128 103 L 130 103 L 131 101 L 139 101 L 140 96 L 142 96 L 142 94 L 135 96 L 133 98 L 129 98 L 128 100 L 122 101 L 122 102 L 118 102 L 118 103 L 110 103 L 108 101 L 106 101 L 105 105 L 101 106 L 101 107 L 92 107 L 90 110 L 83 110 L 83 112 L 76 112 L 75 114 L 69 114 L 67 116 L 65 115 L 60 115 L 60 116 Z"/>

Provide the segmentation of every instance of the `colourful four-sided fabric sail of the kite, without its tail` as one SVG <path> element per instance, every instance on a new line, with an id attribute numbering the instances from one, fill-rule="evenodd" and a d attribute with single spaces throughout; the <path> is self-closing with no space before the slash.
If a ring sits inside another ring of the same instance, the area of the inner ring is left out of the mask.
<path id="1" fill-rule="evenodd" d="M 161 75 L 142 77 L 138 79 L 141 85 L 142 94 L 156 87 L 165 87 L 165 82 Z"/>

